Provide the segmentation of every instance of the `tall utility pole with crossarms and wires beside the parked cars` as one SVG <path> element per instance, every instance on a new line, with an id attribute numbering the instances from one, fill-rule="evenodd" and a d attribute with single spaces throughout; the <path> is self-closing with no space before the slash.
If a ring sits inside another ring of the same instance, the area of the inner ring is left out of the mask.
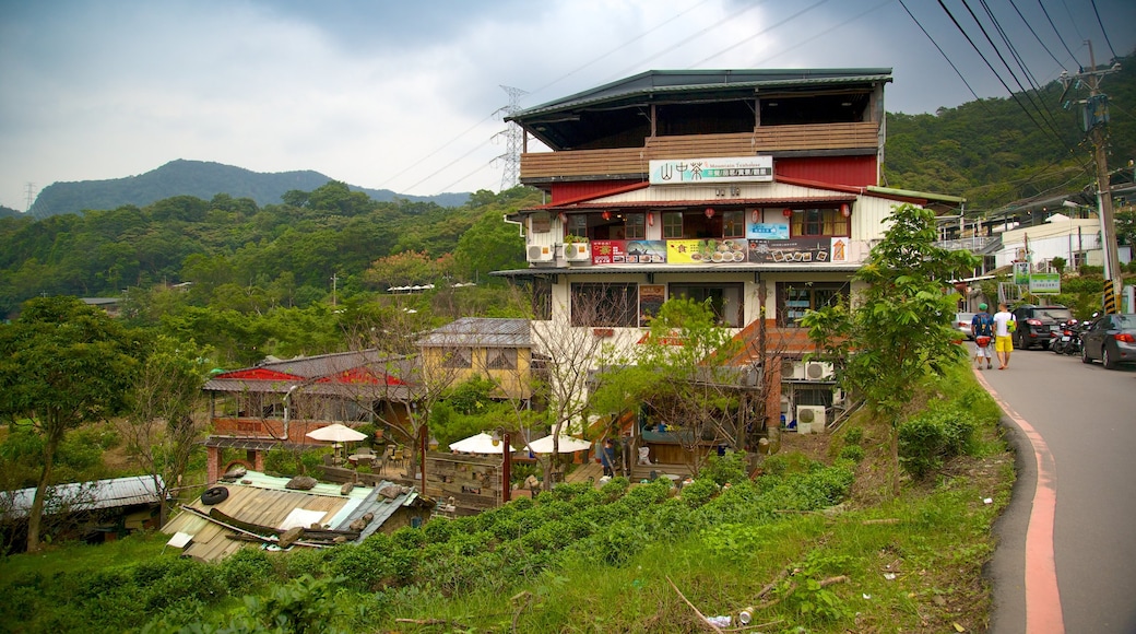
<path id="1" fill-rule="evenodd" d="M 1061 73 L 1061 84 L 1068 92 L 1074 82 L 1084 81 L 1088 85 L 1088 99 L 1084 101 L 1083 122 L 1085 132 L 1093 142 L 1093 158 L 1096 161 L 1096 200 L 1101 217 L 1101 242 L 1104 248 L 1104 312 L 1120 312 L 1120 258 L 1117 255 L 1116 222 L 1112 212 L 1112 185 L 1109 181 L 1109 159 L 1105 132 L 1109 123 L 1109 97 L 1101 92 L 1101 77 L 1120 70 L 1119 64 L 1099 70 L 1093 55 L 1093 42 L 1088 44 L 1088 69 L 1076 75 Z M 1068 103 L 1068 102 L 1067 102 Z"/>

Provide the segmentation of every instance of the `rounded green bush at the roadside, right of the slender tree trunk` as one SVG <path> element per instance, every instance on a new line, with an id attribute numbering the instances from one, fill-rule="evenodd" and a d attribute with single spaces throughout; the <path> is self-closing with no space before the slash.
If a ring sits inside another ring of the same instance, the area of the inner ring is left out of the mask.
<path id="1" fill-rule="evenodd" d="M 900 425 L 900 461 L 911 477 L 921 479 L 950 458 L 974 447 L 976 423 L 959 407 L 932 409 Z"/>

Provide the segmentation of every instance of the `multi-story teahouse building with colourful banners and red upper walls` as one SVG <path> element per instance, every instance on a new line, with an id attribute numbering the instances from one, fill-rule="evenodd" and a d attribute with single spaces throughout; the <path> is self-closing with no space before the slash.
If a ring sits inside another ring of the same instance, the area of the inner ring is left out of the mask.
<path id="1" fill-rule="evenodd" d="M 496 275 L 545 300 L 534 327 L 621 347 L 668 298 L 709 301 L 737 336 L 761 331 L 765 352 L 740 362 L 780 376 L 788 390 L 771 398 L 788 418 L 832 406 L 830 368 L 802 362 L 800 318 L 853 290 L 894 205 L 962 202 L 879 186 L 891 81 L 888 68 L 652 70 L 513 114 L 520 181 L 548 198 L 507 218 L 529 266 Z"/>

